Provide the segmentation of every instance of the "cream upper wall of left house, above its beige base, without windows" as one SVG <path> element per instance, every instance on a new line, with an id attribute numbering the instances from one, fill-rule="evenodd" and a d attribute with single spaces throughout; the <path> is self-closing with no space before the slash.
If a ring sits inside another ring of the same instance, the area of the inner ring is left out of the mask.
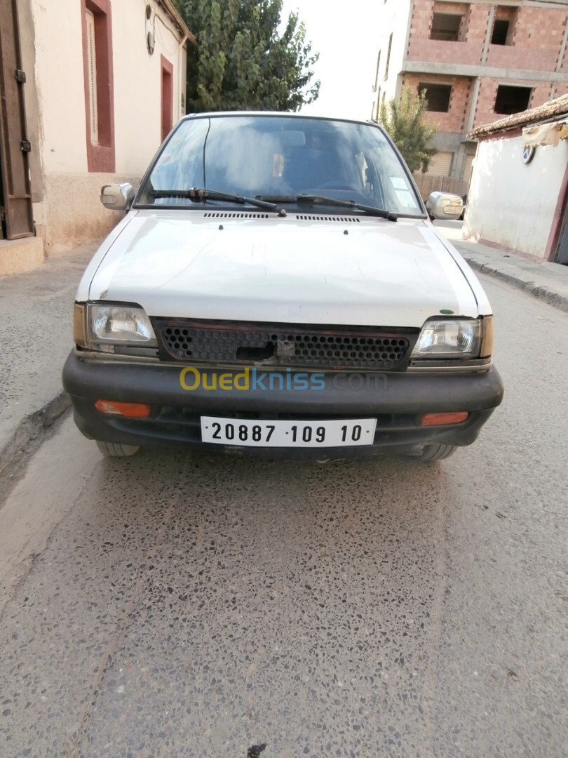
<path id="1" fill-rule="evenodd" d="M 142 174 L 161 143 L 161 55 L 173 65 L 173 123 L 182 115 L 186 54 L 156 0 L 155 49 L 146 47 L 148 0 L 112 0 L 114 148 L 117 174 Z M 80 0 L 32 0 L 36 86 L 46 173 L 87 171 Z"/>

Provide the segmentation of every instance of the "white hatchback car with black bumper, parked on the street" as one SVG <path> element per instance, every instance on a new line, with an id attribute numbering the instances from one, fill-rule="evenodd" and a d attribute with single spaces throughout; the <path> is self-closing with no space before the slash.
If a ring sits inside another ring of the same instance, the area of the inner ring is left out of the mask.
<path id="1" fill-rule="evenodd" d="M 493 318 L 377 125 L 183 118 L 76 295 L 76 424 L 110 456 L 190 443 L 270 456 L 472 443 L 501 402 Z"/>

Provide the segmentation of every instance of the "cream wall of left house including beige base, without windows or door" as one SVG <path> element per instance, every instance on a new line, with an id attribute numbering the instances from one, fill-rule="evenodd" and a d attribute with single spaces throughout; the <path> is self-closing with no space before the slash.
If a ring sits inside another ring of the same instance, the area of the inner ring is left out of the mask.
<path id="1" fill-rule="evenodd" d="M 89 172 L 81 2 L 30 0 L 30 6 L 45 190 L 34 215 L 45 250 L 52 253 L 104 236 L 120 219 L 102 207 L 101 184 L 136 181 L 160 146 L 161 55 L 173 66 L 173 124 L 183 115 L 186 51 L 157 0 L 111 0 L 115 171 Z M 148 29 L 155 36 L 153 55 L 146 45 Z"/>

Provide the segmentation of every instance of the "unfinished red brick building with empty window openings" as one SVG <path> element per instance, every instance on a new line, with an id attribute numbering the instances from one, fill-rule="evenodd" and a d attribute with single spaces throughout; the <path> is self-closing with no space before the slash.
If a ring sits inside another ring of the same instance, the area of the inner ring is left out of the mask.
<path id="1" fill-rule="evenodd" d="M 568 92 L 568 0 L 384 0 L 381 10 L 372 117 L 404 83 L 425 89 L 438 124 L 429 174 L 467 188 L 468 133 Z"/>

